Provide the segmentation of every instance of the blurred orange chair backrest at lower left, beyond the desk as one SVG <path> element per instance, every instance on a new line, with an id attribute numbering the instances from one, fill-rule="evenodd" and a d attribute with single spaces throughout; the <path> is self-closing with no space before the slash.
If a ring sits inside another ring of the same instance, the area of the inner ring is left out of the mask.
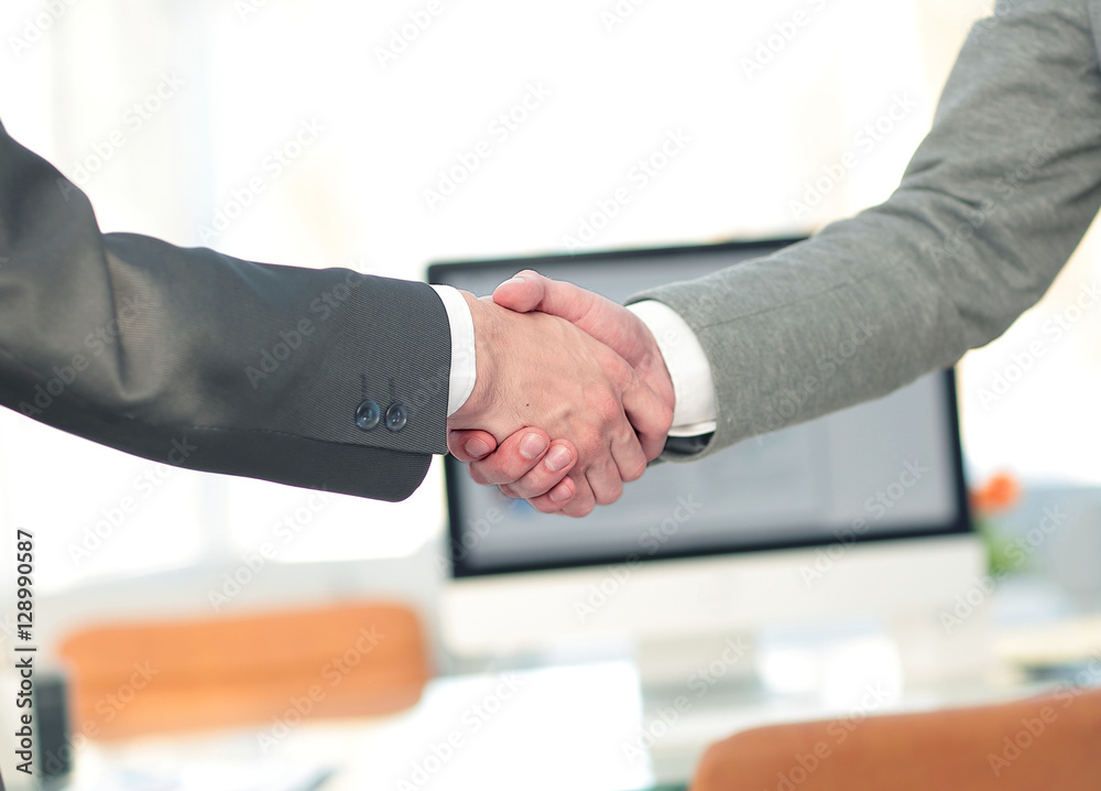
<path id="1" fill-rule="evenodd" d="M 98 626 L 59 652 L 92 738 L 386 714 L 429 678 L 419 619 L 390 603 Z"/>

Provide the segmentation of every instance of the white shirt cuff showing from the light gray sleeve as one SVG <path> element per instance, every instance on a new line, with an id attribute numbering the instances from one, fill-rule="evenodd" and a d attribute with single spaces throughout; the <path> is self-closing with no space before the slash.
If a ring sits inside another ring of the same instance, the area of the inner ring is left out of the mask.
<path id="1" fill-rule="evenodd" d="M 673 379 L 677 402 L 669 436 L 696 436 L 715 431 L 715 380 L 704 347 L 680 314 L 656 300 L 628 310 L 650 327 Z"/>

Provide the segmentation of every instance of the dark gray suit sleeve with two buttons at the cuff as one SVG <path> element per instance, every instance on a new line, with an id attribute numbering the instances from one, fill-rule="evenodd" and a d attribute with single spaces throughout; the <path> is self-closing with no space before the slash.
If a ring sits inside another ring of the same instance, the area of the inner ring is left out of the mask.
<path id="1" fill-rule="evenodd" d="M 101 234 L 0 127 L 6 407 L 182 467 L 399 500 L 446 452 L 449 375 L 429 286 Z M 364 401 L 403 425 L 364 431 Z"/>

